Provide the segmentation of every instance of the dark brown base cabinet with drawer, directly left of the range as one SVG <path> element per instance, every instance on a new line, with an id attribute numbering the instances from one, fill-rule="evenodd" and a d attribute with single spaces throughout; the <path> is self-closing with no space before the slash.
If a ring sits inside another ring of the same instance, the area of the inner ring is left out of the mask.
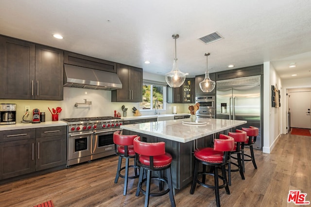
<path id="1" fill-rule="evenodd" d="M 66 132 L 66 126 L 36 129 L 37 171 L 66 164 Z"/>

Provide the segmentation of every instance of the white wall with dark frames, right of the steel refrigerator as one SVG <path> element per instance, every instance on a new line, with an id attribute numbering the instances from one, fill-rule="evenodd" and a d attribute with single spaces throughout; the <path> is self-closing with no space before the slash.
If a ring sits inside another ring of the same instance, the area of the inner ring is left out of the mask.
<path id="1" fill-rule="evenodd" d="M 276 144 L 276 140 L 281 135 L 281 119 L 282 119 L 282 95 L 281 95 L 281 107 L 273 108 L 271 105 L 271 86 L 276 85 L 282 94 L 282 83 L 279 75 L 276 73 L 273 65 L 270 62 L 263 64 L 263 148 L 264 153 L 270 153 Z M 267 75 L 269 74 L 269 76 Z"/>

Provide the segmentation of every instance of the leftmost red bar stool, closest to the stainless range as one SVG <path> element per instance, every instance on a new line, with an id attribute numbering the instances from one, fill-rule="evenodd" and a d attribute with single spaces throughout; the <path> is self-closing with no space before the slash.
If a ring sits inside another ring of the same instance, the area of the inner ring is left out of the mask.
<path id="1" fill-rule="evenodd" d="M 117 174 L 115 178 L 115 183 L 118 182 L 119 176 L 124 178 L 123 195 L 126 195 L 128 179 L 133 179 L 133 178 L 138 177 L 137 169 L 139 167 L 136 165 L 135 152 L 134 152 L 134 146 L 133 146 L 133 140 L 135 137 L 137 137 L 137 135 L 122 135 L 120 134 L 120 131 L 115 131 L 113 133 L 113 142 L 115 143 L 115 151 L 116 151 L 116 154 L 119 155 L 118 169 L 117 169 Z M 125 167 L 121 167 L 122 158 L 125 158 Z M 134 165 L 129 165 L 129 159 L 131 158 L 134 159 Z M 128 170 L 130 167 L 135 168 L 134 176 L 128 176 Z M 121 175 L 121 171 L 124 169 L 125 169 L 125 174 Z"/>

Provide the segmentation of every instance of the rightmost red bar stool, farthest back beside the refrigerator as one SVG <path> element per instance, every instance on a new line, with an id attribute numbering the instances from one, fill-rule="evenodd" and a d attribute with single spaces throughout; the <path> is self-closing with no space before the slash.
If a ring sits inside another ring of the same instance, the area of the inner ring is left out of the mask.
<path id="1" fill-rule="evenodd" d="M 251 152 L 250 156 L 244 154 L 246 157 L 250 158 L 250 159 L 244 159 L 244 161 L 252 161 L 255 169 L 257 169 L 257 165 L 256 165 L 256 162 L 255 162 L 255 156 L 254 156 L 253 144 L 256 143 L 256 137 L 259 134 L 259 129 L 257 127 L 250 126 L 249 128 L 243 128 L 242 127 L 242 130 L 245 131 L 246 134 L 247 134 L 247 139 L 246 139 L 246 142 L 245 142 L 244 145 L 245 146 L 249 146 L 249 150 Z M 243 165 L 243 170 L 245 172 L 244 162 L 242 163 L 242 165 Z"/>

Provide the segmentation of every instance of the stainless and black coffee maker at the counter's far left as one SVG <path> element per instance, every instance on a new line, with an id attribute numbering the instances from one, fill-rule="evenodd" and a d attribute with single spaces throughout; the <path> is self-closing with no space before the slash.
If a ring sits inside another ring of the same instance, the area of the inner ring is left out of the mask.
<path id="1" fill-rule="evenodd" d="M 16 104 L 0 104 L 0 125 L 16 124 Z"/>

